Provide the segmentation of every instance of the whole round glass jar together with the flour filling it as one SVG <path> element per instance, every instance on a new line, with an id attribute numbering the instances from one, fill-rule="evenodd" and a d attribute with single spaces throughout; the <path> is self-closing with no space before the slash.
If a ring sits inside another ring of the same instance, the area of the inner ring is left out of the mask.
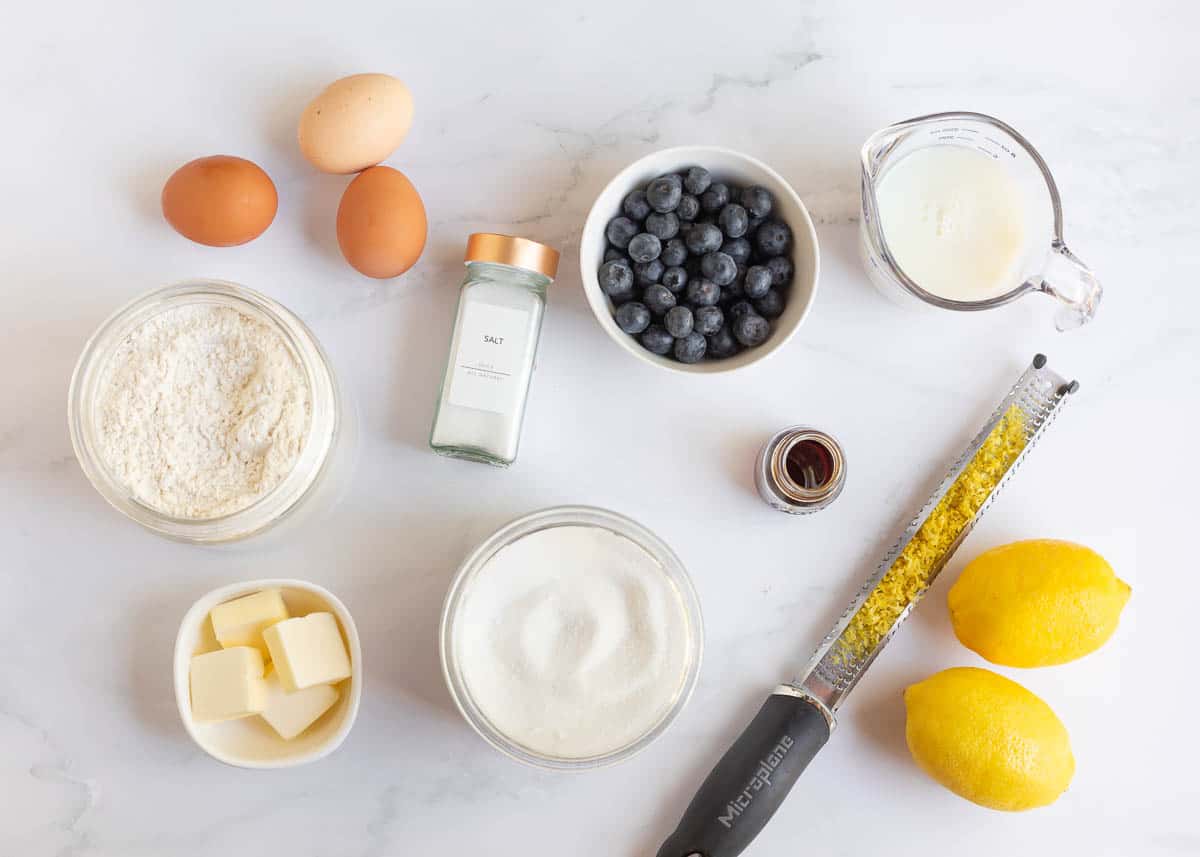
<path id="1" fill-rule="evenodd" d="M 311 526 L 353 473 L 355 415 L 316 336 L 245 286 L 155 289 L 101 324 L 67 403 L 88 479 L 169 539 Z"/>

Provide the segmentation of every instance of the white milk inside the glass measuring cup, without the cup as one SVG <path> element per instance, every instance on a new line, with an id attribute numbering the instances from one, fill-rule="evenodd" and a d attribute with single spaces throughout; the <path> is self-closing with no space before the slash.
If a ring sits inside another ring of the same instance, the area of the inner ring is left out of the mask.
<path id="1" fill-rule="evenodd" d="M 1021 282 L 1025 199 L 991 156 L 959 145 L 918 149 L 883 173 L 876 198 L 892 256 L 926 292 L 977 301 Z"/>

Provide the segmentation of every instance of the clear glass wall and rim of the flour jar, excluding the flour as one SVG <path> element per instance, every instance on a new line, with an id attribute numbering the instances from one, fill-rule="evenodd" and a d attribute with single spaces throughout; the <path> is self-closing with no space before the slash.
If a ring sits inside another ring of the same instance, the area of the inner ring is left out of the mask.
<path id="1" fill-rule="evenodd" d="M 166 515 L 131 496 L 104 467 L 98 454 L 95 406 L 98 384 L 114 349 L 148 319 L 178 306 L 211 304 L 232 307 L 276 329 L 308 379 L 312 413 L 308 436 L 292 472 L 254 503 L 212 519 Z M 330 480 L 330 465 L 347 432 L 341 391 L 329 359 L 312 331 L 276 301 L 236 283 L 196 280 L 155 289 L 122 306 L 92 334 L 71 377 L 67 420 L 76 459 L 88 479 L 118 511 L 146 529 L 179 541 L 220 544 L 260 533 L 310 505 L 318 487 Z M 344 451 L 344 450 L 343 450 Z"/>

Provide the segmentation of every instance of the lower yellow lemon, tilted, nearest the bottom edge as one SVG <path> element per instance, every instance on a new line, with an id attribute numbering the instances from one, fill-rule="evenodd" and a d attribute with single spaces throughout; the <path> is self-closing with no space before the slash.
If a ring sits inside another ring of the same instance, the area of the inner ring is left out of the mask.
<path id="1" fill-rule="evenodd" d="M 1070 784 L 1066 727 L 1016 682 L 960 666 L 911 685 L 904 701 L 912 757 L 967 801 L 1020 811 L 1054 803 Z"/>

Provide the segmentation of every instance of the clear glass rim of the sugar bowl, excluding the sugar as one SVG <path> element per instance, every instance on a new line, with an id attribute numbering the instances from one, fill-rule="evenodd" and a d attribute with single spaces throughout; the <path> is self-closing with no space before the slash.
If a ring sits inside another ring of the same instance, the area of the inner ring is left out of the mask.
<path id="1" fill-rule="evenodd" d="M 679 593 L 679 600 L 686 612 L 689 629 L 684 677 L 667 712 L 632 743 L 600 756 L 583 759 L 547 756 L 535 753 L 496 729 L 470 696 L 467 683 L 463 681 L 455 642 L 455 621 L 463 597 L 496 552 L 530 533 L 550 527 L 564 526 L 590 526 L 608 529 L 625 537 L 654 557 L 662 573 Z M 562 505 L 542 509 L 541 511 L 520 517 L 493 533 L 491 538 L 485 540 L 467 557 L 450 583 L 450 591 L 446 593 L 445 606 L 442 611 L 442 627 L 439 630 L 442 671 L 446 679 L 446 687 L 450 689 L 450 695 L 454 697 L 455 705 L 458 706 L 458 711 L 462 712 L 463 718 L 470 724 L 472 729 L 479 732 L 488 744 L 518 762 L 554 771 L 587 771 L 606 765 L 614 765 L 641 751 L 662 735 L 676 717 L 679 715 L 684 706 L 688 705 L 688 700 L 696 687 L 696 679 L 700 677 L 703 636 L 700 600 L 696 598 L 696 591 L 692 588 L 686 569 L 684 569 L 683 563 L 679 562 L 679 557 L 674 555 L 674 551 L 636 521 L 607 509 L 586 505 Z"/>

